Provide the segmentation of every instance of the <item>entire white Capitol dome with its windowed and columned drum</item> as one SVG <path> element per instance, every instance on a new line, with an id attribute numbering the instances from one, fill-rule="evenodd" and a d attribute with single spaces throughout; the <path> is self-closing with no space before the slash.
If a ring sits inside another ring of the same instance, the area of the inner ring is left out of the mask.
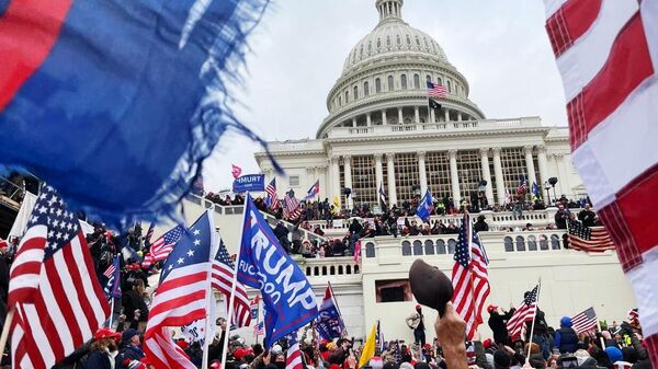
<path id="1" fill-rule="evenodd" d="M 317 138 L 337 127 L 429 124 L 483 119 L 468 100 L 468 82 L 431 36 L 402 20 L 404 0 L 376 0 L 379 22 L 352 48 L 327 96 L 329 115 Z M 443 85 L 445 97 L 431 109 L 427 82 Z"/>

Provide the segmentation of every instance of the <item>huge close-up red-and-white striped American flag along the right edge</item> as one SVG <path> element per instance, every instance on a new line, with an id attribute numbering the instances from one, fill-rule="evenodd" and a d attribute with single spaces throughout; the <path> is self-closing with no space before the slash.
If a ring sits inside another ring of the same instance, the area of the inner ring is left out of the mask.
<path id="1" fill-rule="evenodd" d="M 646 0 L 544 2 L 568 102 L 571 159 L 637 291 L 639 311 L 655 312 L 658 7 Z M 643 334 L 658 367 L 658 324 L 643 322 Z"/>

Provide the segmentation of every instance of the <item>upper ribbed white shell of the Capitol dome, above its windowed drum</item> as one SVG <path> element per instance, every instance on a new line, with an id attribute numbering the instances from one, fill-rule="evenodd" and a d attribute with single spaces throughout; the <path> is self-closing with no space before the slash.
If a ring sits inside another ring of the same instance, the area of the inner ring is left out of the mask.
<path id="1" fill-rule="evenodd" d="M 418 54 L 449 64 L 445 53 L 432 37 L 399 18 L 389 18 L 381 21 L 373 32 L 356 43 L 345 59 L 342 74 L 348 74 L 362 62 L 396 53 L 404 53 L 406 57 Z"/>

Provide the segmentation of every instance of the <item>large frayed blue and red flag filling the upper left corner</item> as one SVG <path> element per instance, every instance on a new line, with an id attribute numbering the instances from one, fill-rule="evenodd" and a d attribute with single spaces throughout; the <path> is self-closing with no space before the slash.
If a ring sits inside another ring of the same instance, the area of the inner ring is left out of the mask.
<path id="1" fill-rule="evenodd" d="M 0 1 L 0 164 L 111 222 L 172 212 L 227 129 L 260 141 L 226 81 L 268 3 Z"/>

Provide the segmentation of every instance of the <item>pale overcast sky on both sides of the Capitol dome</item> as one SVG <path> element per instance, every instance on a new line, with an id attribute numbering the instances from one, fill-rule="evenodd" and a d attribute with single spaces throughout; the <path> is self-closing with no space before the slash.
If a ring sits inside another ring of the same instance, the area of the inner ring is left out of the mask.
<path id="1" fill-rule="evenodd" d="M 439 42 L 488 118 L 567 124 L 542 1 L 406 0 L 402 18 Z M 266 140 L 315 138 L 344 58 L 377 20 L 375 0 L 275 1 L 250 38 L 245 83 L 232 92 L 238 116 Z M 258 173 L 258 149 L 224 137 L 204 163 L 206 191 L 230 186 L 231 163 Z"/>

